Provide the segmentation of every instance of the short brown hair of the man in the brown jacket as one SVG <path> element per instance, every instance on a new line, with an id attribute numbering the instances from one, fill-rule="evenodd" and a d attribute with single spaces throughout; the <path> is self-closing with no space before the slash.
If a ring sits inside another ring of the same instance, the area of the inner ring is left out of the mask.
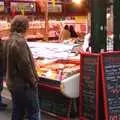
<path id="1" fill-rule="evenodd" d="M 10 32 L 25 33 L 29 27 L 29 21 L 26 16 L 17 15 L 11 22 Z"/>

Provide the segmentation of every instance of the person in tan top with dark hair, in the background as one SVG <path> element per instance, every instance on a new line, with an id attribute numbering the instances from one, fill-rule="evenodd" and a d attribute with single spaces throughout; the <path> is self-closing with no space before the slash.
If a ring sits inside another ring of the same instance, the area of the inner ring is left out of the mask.
<path id="1" fill-rule="evenodd" d="M 70 38 L 69 26 L 65 25 L 64 29 L 61 31 L 59 40 L 68 40 Z"/>

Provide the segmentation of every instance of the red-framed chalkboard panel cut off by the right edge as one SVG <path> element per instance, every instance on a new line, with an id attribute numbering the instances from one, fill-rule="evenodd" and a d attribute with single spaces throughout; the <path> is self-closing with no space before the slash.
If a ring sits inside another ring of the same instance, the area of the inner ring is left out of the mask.
<path id="1" fill-rule="evenodd" d="M 105 120 L 120 120 L 120 52 L 101 54 Z"/>

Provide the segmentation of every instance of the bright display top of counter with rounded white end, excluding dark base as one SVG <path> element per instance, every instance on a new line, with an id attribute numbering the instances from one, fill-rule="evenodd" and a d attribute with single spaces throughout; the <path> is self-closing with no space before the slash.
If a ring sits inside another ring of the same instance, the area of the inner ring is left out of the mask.
<path id="1" fill-rule="evenodd" d="M 71 51 L 75 45 L 28 42 L 35 58 L 39 77 L 48 84 L 58 82 L 61 92 L 70 98 L 79 97 L 80 58 Z M 43 52 L 44 51 L 44 52 Z"/>

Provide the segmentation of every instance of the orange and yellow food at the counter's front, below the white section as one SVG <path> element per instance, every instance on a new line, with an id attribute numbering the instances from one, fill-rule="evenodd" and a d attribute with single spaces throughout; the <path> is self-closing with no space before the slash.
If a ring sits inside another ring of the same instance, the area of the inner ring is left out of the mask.
<path id="1" fill-rule="evenodd" d="M 51 64 L 44 64 L 41 66 L 41 62 L 36 62 L 36 69 L 39 77 L 49 78 L 51 80 L 63 80 L 80 70 L 79 64 L 67 63 L 62 61 L 56 61 Z"/>

